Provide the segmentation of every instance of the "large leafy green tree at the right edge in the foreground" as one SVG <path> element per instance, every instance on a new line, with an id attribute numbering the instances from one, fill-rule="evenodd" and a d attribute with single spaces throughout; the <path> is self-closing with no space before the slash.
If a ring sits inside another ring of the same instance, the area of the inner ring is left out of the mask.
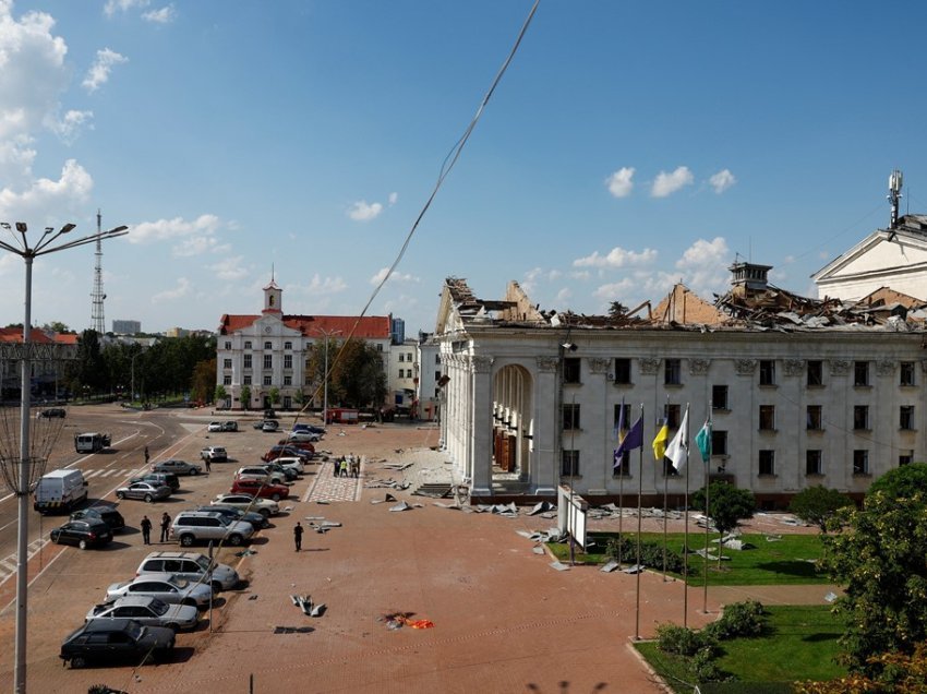
<path id="1" fill-rule="evenodd" d="M 889 472 L 907 478 L 904 468 Z M 889 480 L 884 487 L 891 488 Z M 834 610 L 846 617 L 842 660 L 853 672 L 878 677 L 872 656 L 911 655 L 927 641 L 927 495 L 870 491 L 863 508 L 844 507 L 831 522 L 843 533 L 822 537 L 821 567 L 845 586 Z"/>

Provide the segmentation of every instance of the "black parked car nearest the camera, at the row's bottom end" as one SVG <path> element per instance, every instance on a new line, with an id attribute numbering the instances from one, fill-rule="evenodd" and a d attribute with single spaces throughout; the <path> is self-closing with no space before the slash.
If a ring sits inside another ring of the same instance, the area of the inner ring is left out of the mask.
<path id="1" fill-rule="evenodd" d="M 143 626 L 135 620 L 92 620 L 71 632 L 61 644 L 59 658 L 72 668 L 95 660 L 142 662 L 149 657 L 168 660 L 173 651 L 170 629 Z"/>

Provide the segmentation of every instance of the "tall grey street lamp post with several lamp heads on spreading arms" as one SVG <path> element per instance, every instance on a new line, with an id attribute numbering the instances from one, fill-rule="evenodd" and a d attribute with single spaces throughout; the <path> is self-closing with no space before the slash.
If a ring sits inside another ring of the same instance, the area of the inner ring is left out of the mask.
<path id="1" fill-rule="evenodd" d="M 64 251 L 98 240 L 115 238 L 128 234 L 128 227 L 117 227 L 109 231 L 94 234 L 74 241 L 67 241 L 52 246 L 55 241 L 70 232 L 76 225 L 65 224 L 58 231 L 53 227 L 46 227 L 38 242 L 31 247 L 26 240 L 27 227 L 24 222 L 15 223 L 15 232 L 7 222 L 0 222 L 0 228 L 9 231 L 12 241 L 0 240 L 0 248 L 15 253 L 25 262 L 25 316 L 23 319 L 23 351 L 20 360 L 20 460 L 19 483 L 14 489 L 19 506 L 19 528 L 16 535 L 16 644 L 15 644 L 15 670 L 14 691 L 24 694 L 26 691 L 26 627 L 27 627 L 27 603 L 28 603 L 28 508 L 29 491 L 32 480 L 32 464 L 29 459 L 29 407 L 32 406 L 31 374 L 32 374 L 32 270 L 33 261 L 39 255 L 47 255 L 57 251 Z M 17 236 L 19 234 L 19 236 Z"/>

